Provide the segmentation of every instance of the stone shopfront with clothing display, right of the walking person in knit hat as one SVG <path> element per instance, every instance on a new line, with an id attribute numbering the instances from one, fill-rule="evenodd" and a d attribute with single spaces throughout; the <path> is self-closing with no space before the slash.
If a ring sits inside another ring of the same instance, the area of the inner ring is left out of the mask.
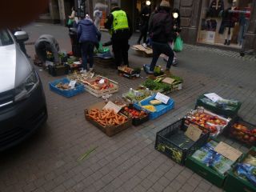
<path id="1" fill-rule="evenodd" d="M 256 49 L 255 0 L 175 0 L 174 6 L 181 12 L 186 43 Z"/>

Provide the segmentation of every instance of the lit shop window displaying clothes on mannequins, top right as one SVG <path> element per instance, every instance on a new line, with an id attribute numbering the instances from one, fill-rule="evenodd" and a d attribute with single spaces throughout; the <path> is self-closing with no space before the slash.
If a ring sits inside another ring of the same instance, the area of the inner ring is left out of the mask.
<path id="1" fill-rule="evenodd" d="M 252 0 L 203 0 L 198 42 L 242 47 L 251 7 Z"/>

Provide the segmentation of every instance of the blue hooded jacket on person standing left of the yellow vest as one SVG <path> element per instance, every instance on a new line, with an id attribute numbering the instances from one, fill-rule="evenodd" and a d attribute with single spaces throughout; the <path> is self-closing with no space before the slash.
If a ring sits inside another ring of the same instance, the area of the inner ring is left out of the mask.
<path id="1" fill-rule="evenodd" d="M 86 18 L 78 22 L 78 40 L 79 42 L 94 42 L 95 44 L 101 38 L 101 33 L 98 31 L 94 22 L 90 18 Z"/>

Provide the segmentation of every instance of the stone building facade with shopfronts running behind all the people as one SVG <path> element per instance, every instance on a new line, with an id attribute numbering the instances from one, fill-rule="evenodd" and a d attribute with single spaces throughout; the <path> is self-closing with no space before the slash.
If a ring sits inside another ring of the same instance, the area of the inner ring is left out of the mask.
<path id="1" fill-rule="evenodd" d="M 134 30 L 138 30 L 139 12 L 146 0 L 50 0 L 50 18 L 66 23 L 71 7 L 84 11 L 93 18 L 94 9 L 102 10 L 102 22 L 110 14 L 111 2 L 130 16 Z M 151 9 L 161 0 L 150 0 Z M 170 0 L 171 8 L 181 14 L 182 38 L 193 45 L 216 46 L 222 49 L 256 49 L 256 0 Z"/>

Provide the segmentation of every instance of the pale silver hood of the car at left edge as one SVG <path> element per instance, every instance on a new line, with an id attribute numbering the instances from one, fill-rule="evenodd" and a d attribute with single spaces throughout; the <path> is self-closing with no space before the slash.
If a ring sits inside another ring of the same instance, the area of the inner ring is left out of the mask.
<path id="1" fill-rule="evenodd" d="M 19 86 L 31 70 L 30 61 L 16 44 L 0 46 L 0 93 Z"/>

